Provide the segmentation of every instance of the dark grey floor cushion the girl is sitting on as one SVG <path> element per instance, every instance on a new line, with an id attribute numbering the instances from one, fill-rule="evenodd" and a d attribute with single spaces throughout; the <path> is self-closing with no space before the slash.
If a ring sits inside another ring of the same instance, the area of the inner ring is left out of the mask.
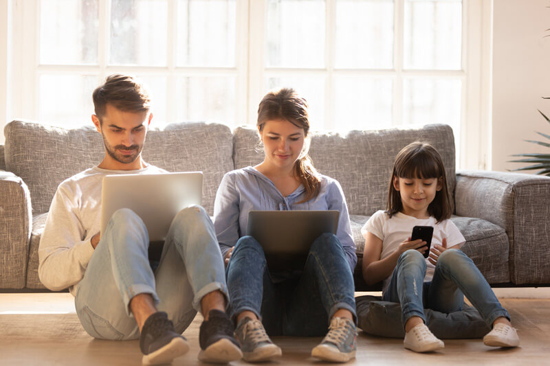
<path id="1" fill-rule="evenodd" d="M 355 298 L 357 304 L 358 327 L 375 336 L 404 338 L 404 325 L 401 323 L 401 306 L 382 301 L 377 296 Z M 482 338 L 490 328 L 479 312 L 472 306 L 463 306 L 461 311 L 445 314 L 424 309 L 426 325 L 440 339 Z"/>

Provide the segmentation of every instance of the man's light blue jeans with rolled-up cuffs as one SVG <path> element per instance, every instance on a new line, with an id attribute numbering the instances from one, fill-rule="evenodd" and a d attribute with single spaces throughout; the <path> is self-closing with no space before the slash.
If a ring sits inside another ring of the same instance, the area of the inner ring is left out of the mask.
<path id="1" fill-rule="evenodd" d="M 180 333 L 200 311 L 204 295 L 221 290 L 228 296 L 214 226 L 202 207 L 186 207 L 175 216 L 155 273 L 148 247 L 139 216 L 130 209 L 111 216 L 75 297 L 78 318 L 94 338 L 137 339 L 139 329 L 129 304 L 141 293 L 153 297 Z"/>

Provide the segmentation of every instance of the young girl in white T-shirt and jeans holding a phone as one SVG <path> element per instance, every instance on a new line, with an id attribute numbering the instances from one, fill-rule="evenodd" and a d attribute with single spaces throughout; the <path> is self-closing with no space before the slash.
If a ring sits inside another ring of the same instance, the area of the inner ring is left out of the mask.
<path id="1" fill-rule="evenodd" d="M 384 301 L 401 304 L 405 348 L 428 352 L 443 348 L 425 325 L 423 308 L 461 310 L 464 295 L 489 327 L 483 343 L 516 347 L 518 334 L 485 277 L 459 248 L 465 239 L 449 220 L 450 198 L 445 168 L 430 144 L 413 142 L 397 154 L 389 184 L 388 209 L 377 211 L 362 227 L 365 237 L 363 277 L 367 284 L 384 280 Z M 432 249 L 410 240 L 412 227 L 432 226 Z"/>

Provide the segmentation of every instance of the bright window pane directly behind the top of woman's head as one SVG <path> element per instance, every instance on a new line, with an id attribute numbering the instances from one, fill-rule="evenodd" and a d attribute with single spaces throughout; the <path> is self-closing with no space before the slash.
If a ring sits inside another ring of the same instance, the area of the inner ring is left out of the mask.
<path id="1" fill-rule="evenodd" d="M 322 130 L 325 127 L 325 78 L 295 76 L 269 78 L 265 93 L 281 88 L 295 89 L 302 98 L 305 98 L 311 130 Z M 257 110 L 258 106 L 252 106 L 252 108 Z M 253 122 L 256 123 L 256 121 Z"/>

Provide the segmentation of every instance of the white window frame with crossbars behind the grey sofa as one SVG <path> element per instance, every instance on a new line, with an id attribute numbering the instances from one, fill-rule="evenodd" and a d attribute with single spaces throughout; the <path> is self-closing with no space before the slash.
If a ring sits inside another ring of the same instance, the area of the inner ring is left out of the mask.
<path id="1" fill-rule="evenodd" d="M 256 109 L 265 92 L 265 75 L 310 74 L 325 77 L 325 128 L 336 128 L 334 106 L 334 79 L 338 75 L 347 76 L 391 76 L 394 78 L 393 97 L 402 101 L 402 78 L 410 76 L 449 76 L 462 78 L 461 105 L 461 144 L 456 146 L 460 152 L 459 168 L 484 169 L 490 162 L 490 100 L 491 100 L 491 43 L 492 43 L 492 1 L 463 0 L 462 65 L 458 71 L 403 71 L 403 9 L 404 0 L 395 0 L 395 42 L 393 70 L 338 70 L 333 65 L 333 49 L 336 39 L 336 1 L 326 0 L 327 28 L 325 39 L 325 69 L 288 69 L 265 67 L 265 1 L 236 0 L 236 53 L 235 67 L 175 67 L 175 49 L 168 53 L 167 67 L 111 67 L 107 66 L 109 55 L 109 0 L 99 0 L 99 51 L 98 66 L 57 66 L 39 65 L 39 0 L 8 0 L 3 3 L 8 16 L 8 42 L 0 44 L 7 56 L 8 66 L 1 71 L 0 82 L 7 84 L 5 107 L 0 103 L 0 113 L 5 113 L 8 121 L 17 118 L 37 119 L 39 100 L 39 77 L 41 73 L 93 74 L 101 80 L 114 72 L 154 73 L 172 76 L 235 76 L 235 115 L 234 126 L 255 124 Z M 168 11 L 172 14 L 168 20 L 168 44 L 175 35 L 175 0 L 169 0 Z M 2 8 L 3 9 L 3 8 Z M 105 26 L 106 25 L 106 26 Z M 3 30 L 3 28 L 2 28 Z M 239 47 L 247 45 L 247 47 Z M 2 51 L 0 49 L 0 52 Z M 0 67 L 2 67 L 0 60 Z M 5 76 L 5 78 L 4 78 Z M 174 95 L 175 78 L 168 78 L 167 95 Z M 0 97 L 2 96 L 0 90 Z M 174 100 L 167 101 L 166 120 L 175 121 Z M 393 103 L 392 126 L 402 121 L 402 102 Z M 91 114 L 92 111 L 90 111 Z M 388 126 L 391 127 L 391 126 Z M 0 135 L 3 141 L 3 135 Z"/>

